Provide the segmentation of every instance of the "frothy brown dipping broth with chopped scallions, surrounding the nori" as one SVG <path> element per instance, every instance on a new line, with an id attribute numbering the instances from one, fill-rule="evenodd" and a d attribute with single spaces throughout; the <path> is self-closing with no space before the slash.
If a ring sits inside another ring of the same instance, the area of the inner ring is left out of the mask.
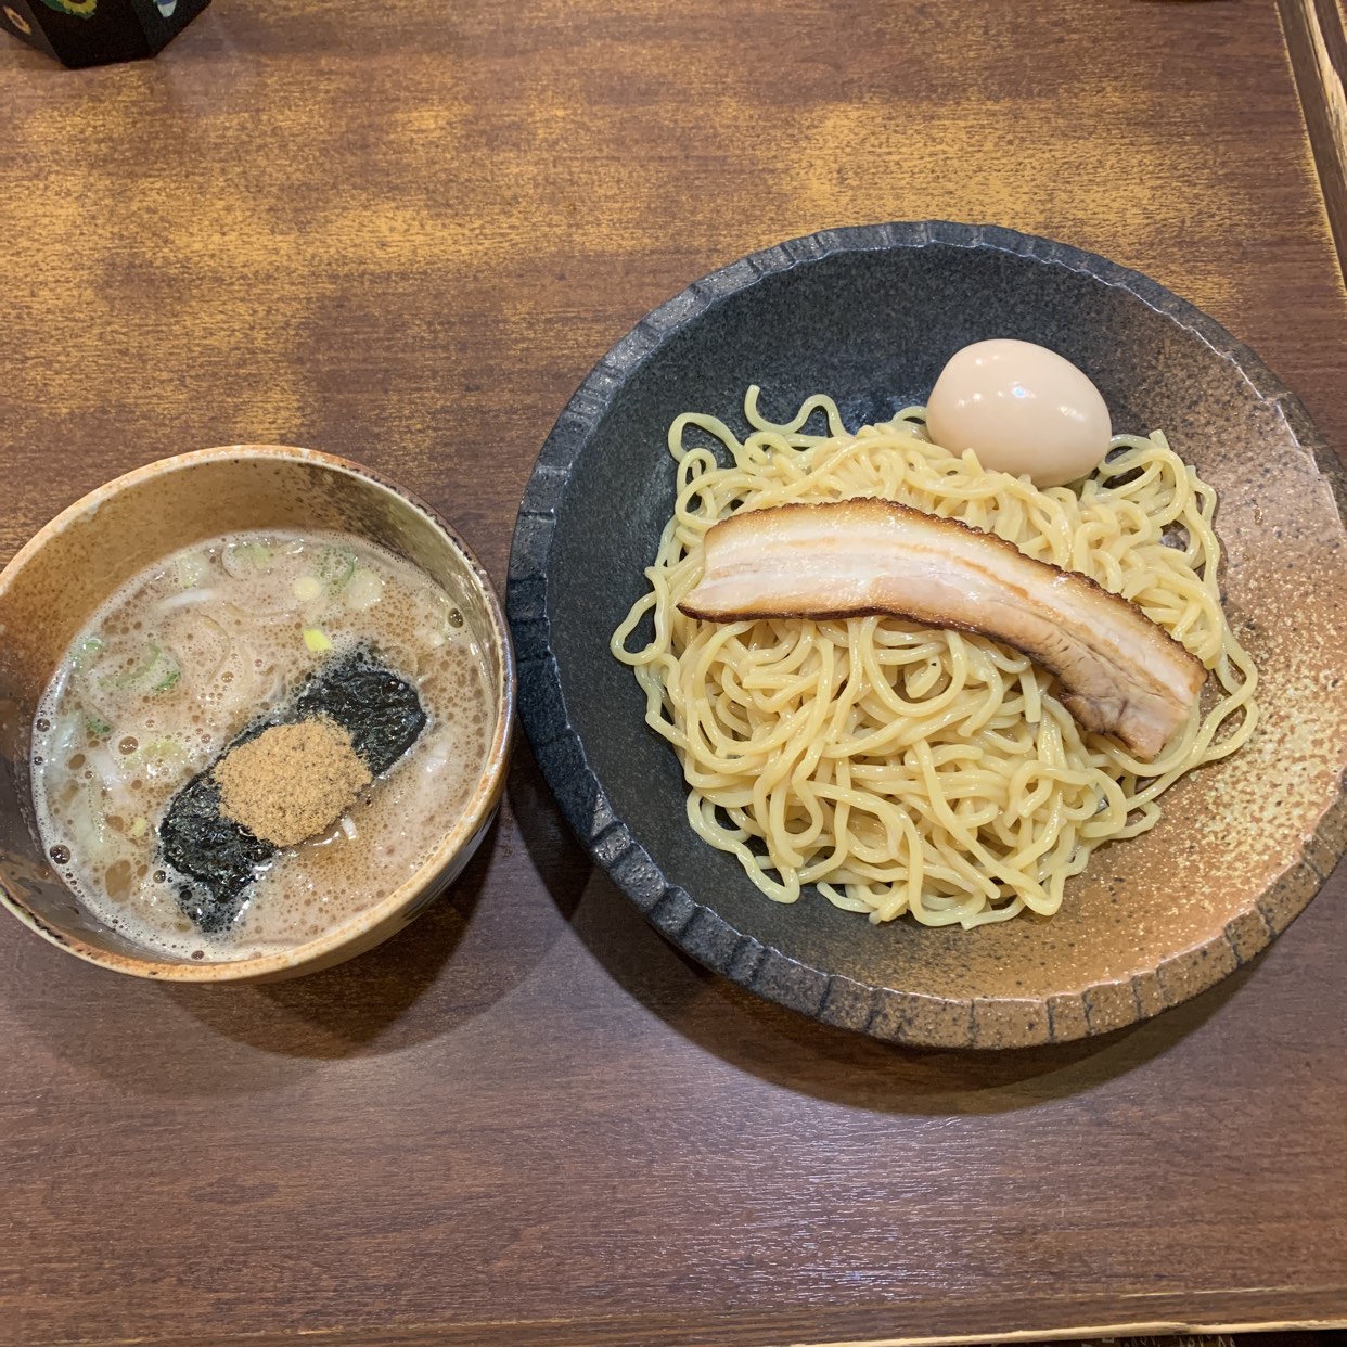
<path id="1" fill-rule="evenodd" d="M 159 853 L 170 800 L 357 645 L 415 683 L 426 729 L 326 835 L 276 854 L 229 931 L 203 935 Z M 415 874 L 477 784 L 494 714 L 470 624 L 409 562 L 339 533 L 221 536 L 135 577 L 66 652 L 34 726 L 42 842 L 90 909 L 152 950 L 291 948 Z"/>

